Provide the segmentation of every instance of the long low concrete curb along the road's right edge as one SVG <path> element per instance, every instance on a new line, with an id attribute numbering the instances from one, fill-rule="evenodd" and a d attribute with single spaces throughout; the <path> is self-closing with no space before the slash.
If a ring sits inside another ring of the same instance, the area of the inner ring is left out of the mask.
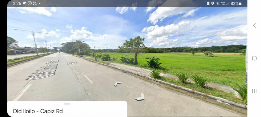
<path id="1" fill-rule="evenodd" d="M 75 56 L 75 55 L 73 55 L 73 56 Z M 78 56 L 76 56 L 76 57 L 78 57 Z M 79 58 L 83 58 L 83 57 L 79 57 Z M 86 58 L 83 58 L 83 59 L 86 59 Z M 86 60 L 91 61 L 91 62 L 95 62 L 95 63 L 99 63 L 99 62 L 92 61 L 92 60 L 89 60 L 89 59 L 86 59 Z M 123 69 L 121 69 L 121 68 L 109 66 L 109 65 L 106 65 L 106 64 L 103 64 L 103 63 L 99 63 L 99 64 L 102 64 L 102 65 L 105 65 L 105 66 L 108 66 L 108 67 L 112 67 L 112 68 L 115 68 L 115 69 L 118 69 L 118 70 L 126 71 L 126 70 L 123 70 Z M 207 94 L 204 94 L 204 93 L 201 93 L 201 92 L 198 92 L 198 91 L 194 91 L 194 90 L 189 89 L 189 88 L 186 88 L 186 87 L 177 86 L 177 85 L 175 85 L 175 84 L 167 83 L 167 82 L 164 82 L 164 81 L 161 81 L 161 80 L 158 80 L 158 79 L 154 79 L 154 78 L 151 78 L 151 77 L 139 75 L 139 74 L 133 73 L 133 72 L 131 72 L 131 71 L 126 71 L 126 72 L 131 73 L 131 74 L 135 74 L 135 75 L 138 75 L 138 76 L 147 78 L 147 79 L 151 79 L 151 80 L 154 80 L 154 81 L 156 81 L 156 82 L 169 85 L 169 86 L 171 86 L 171 87 L 179 88 L 179 89 L 181 89 L 181 90 L 188 91 L 188 92 L 191 92 L 191 93 L 194 93 L 194 94 L 204 95 L 204 96 L 207 96 L 207 97 L 209 97 L 209 98 L 211 98 L 211 99 L 215 99 L 215 100 L 218 99 L 218 100 L 220 100 L 220 101 L 222 101 L 222 102 L 225 102 L 225 103 L 234 105 L 234 106 L 236 106 L 236 107 L 240 107 L 240 108 L 247 109 L 247 106 L 246 106 L 246 105 L 243 105 L 243 104 L 234 103 L 234 102 L 228 101 L 228 100 L 223 99 L 223 98 L 220 98 L 220 97 L 215 97 L 215 96 L 212 96 L 212 95 L 207 95 Z"/>

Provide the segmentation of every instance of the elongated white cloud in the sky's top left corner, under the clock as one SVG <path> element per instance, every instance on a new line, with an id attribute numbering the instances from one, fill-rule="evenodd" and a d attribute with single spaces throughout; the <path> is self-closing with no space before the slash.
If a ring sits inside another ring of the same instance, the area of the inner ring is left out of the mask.
<path id="1" fill-rule="evenodd" d="M 40 14 L 46 15 L 48 17 L 52 16 L 49 10 L 46 10 L 45 7 L 7 7 L 9 9 L 16 9 L 21 13 L 32 13 L 32 14 Z"/>

